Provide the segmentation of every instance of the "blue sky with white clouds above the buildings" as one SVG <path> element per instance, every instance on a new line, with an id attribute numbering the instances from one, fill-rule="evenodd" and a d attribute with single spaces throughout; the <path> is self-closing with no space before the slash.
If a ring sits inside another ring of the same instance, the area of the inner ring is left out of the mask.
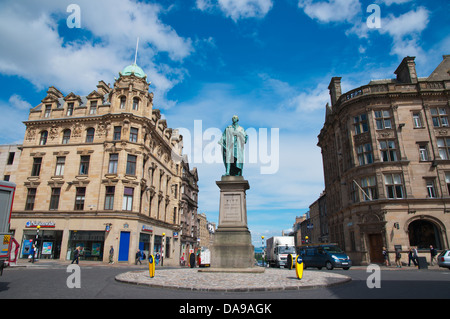
<path id="1" fill-rule="evenodd" d="M 70 4 L 80 9 L 79 28 L 67 23 Z M 379 28 L 366 23 L 372 4 Z M 394 78 L 408 55 L 427 77 L 450 54 L 449 12 L 446 0 L 3 0 L 0 144 L 23 141 L 22 121 L 49 86 L 87 95 L 100 80 L 112 85 L 134 61 L 139 37 L 137 63 L 152 82 L 154 106 L 169 127 L 187 133 L 199 212 L 209 220 L 218 221 L 215 181 L 224 168 L 195 161 L 195 152 L 205 154 L 234 114 L 255 133 L 247 152 L 256 161 L 244 166 L 244 177 L 249 228 L 260 246 L 261 235 L 292 228 L 323 191 L 317 135 L 331 77 L 342 77 L 343 91 Z M 270 164 L 277 165 L 262 173 Z"/>

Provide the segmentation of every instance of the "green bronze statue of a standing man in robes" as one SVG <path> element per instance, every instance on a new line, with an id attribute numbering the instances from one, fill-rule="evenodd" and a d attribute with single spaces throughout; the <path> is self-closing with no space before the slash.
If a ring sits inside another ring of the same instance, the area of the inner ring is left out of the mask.
<path id="1" fill-rule="evenodd" d="M 247 133 L 239 126 L 239 118 L 233 116 L 233 124 L 223 131 L 219 144 L 222 146 L 223 163 L 227 176 L 242 176 L 244 167 L 244 145 L 247 143 Z"/>

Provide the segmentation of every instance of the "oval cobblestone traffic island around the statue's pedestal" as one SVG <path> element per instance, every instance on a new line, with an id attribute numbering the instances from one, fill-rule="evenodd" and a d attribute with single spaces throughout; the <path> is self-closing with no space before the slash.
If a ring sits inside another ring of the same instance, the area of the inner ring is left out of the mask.
<path id="1" fill-rule="evenodd" d="M 148 270 L 129 271 L 117 275 L 116 280 L 157 288 L 245 292 L 325 287 L 349 282 L 351 278 L 332 272 L 305 271 L 299 280 L 295 270 L 272 268 L 264 273 L 211 273 L 181 268 L 157 269 L 153 278 L 150 278 Z"/>

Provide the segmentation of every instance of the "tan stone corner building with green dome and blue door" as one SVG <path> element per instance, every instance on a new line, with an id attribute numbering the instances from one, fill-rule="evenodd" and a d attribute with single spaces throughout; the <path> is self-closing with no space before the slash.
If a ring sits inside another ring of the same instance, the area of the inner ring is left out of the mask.
<path id="1" fill-rule="evenodd" d="M 16 175 L 11 228 L 26 258 L 38 237 L 40 258 L 134 262 L 138 249 L 180 252 L 182 136 L 153 107 L 136 64 L 114 86 L 87 96 L 50 87 L 30 110 Z"/>

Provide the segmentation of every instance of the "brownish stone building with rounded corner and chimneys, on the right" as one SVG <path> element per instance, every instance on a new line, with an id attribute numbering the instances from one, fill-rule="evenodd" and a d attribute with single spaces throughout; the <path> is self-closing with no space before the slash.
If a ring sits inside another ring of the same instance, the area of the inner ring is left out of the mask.
<path id="1" fill-rule="evenodd" d="M 450 56 L 419 78 L 415 58 L 395 79 L 341 92 L 331 79 L 331 105 L 318 136 L 329 241 L 356 264 L 382 262 L 417 246 L 449 248 Z M 407 254 L 402 254 L 407 258 Z"/>

